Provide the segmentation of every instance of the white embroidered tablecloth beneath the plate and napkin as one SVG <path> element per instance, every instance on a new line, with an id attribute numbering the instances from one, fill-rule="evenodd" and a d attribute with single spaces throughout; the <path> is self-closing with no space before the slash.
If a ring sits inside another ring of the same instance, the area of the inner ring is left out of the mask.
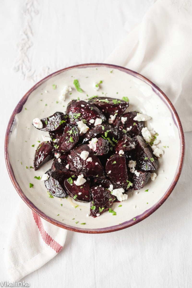
<path id="1" fill-rule="evenodd" d="M 3 153 L 12 111 L 47 74 L 75 64 L 104 62 L 154 2 L 1 1 L 0 281 L 8 280 L 6 240 L 22 201 Z M 23 280 L 30 287 L 191 287 L 191 137 L 192 132 L 185 133 L 186 158 L 178 184 L 155 213 L 109 234 L 69 231 L 63 250 Z"/>

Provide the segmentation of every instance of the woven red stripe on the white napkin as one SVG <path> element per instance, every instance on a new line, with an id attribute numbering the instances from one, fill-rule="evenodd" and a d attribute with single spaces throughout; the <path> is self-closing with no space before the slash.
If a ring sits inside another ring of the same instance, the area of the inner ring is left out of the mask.
<path id="1" fill-rule="evenodd" d="M 47 245 L 49 245 L 53 250 L 56 251 L 56 253 L 58 253 L 59 251 L 61 251 L 62 246 L 57 243 L 49 234 L 47 234 L 47 232 L 44 230 L 43 228 L 43 223 L 41 221 L 41 217 L 36 214 L 34 211 L 32 211 L 33 213 L 33 217 L 35 219 L 35 223 L 37 224 L 37 227 L 39 228 L 39 231 L 41 233 L 41 236 L 43 238 L 43 241 L 45 241 L 45 243 Z"/>

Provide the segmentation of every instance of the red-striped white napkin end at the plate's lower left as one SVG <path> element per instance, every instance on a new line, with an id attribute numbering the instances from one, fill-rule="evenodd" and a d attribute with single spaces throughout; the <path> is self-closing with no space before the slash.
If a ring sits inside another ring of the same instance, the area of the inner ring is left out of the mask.
<path id="1" fill-rule="evenodd" d="M 18 281 L 61 251 L 67 230 L 47 222 L 21 201 L 5 255 L 9 281 Z"/>

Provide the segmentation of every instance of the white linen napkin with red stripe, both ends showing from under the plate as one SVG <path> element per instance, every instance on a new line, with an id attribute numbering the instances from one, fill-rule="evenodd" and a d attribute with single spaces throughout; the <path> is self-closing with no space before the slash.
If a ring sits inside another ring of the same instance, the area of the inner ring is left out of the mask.
<path id="1" fill-rule="evenodd" d="M 137 71 L 157 84 L 175 105 L 185 131 L 192 126 L 191 15 L 190 1 L 157 1 L 105 60 Z M 62 249 L 66 233 L 21 203 L 5 254 L 10 278 L 20 280 L 52 259 Z"/>

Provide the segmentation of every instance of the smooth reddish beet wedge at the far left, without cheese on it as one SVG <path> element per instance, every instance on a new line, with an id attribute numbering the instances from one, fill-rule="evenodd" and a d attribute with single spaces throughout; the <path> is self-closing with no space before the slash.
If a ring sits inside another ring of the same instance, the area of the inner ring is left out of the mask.
<path id="1" fill-rule="evenodd" d="M 42 142 L 39 144 L 35 151 L 34 157 L 34 170 L 37 170 L 42 164 L 48 160 L 54 158 L 54 153 L 52 151 L 53 145 L 50 142 Z"/>

